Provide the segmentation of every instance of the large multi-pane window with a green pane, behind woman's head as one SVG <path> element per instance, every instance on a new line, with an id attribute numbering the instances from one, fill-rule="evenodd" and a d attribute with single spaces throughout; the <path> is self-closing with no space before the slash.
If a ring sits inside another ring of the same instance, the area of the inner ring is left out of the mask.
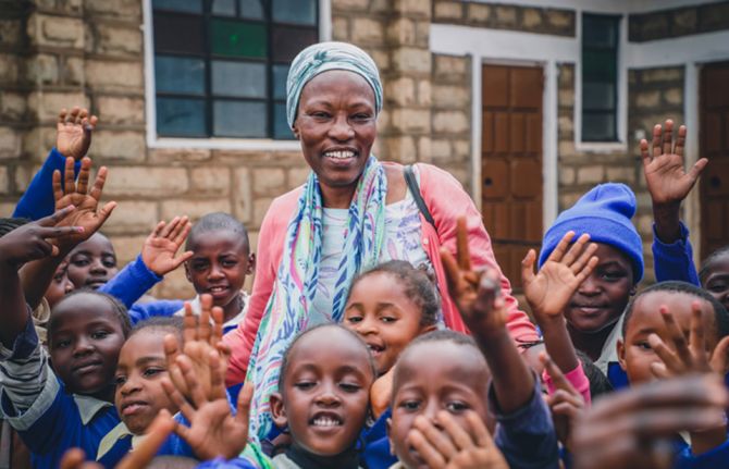
<path id="1" fill-rule="evenodd" d="M 317 0 L 152 0 L 157 135 L 294 138 L 286 75 Z"/>

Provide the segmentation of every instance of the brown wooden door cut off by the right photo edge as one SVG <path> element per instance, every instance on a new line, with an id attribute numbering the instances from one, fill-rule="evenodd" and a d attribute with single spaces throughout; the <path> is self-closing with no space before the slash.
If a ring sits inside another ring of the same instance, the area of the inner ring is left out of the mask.
<path id="1" fill-rule="evenodd" d="M 729 62 L 701 72 L 701 256 L 729 245 Z"/>

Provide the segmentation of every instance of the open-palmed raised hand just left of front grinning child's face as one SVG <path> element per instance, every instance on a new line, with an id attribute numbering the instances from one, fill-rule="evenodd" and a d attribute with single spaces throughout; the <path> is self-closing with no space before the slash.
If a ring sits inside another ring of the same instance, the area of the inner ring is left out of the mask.
<path id="1" fill-rule="evenodd" d="M 189 427 L 176 423 L 175 433 L 185 440 L 201 460 L 238 456 L 248 440 L 248 412 L 254 396 L 252 383 L 246 383 L 238 395 L 236 415 L 233 416 L 225 392 L 225 368 L 218 351 L 208 354 L 210 368 L 210 395 L 200 384 L 195 367 L 187 356 L 177 358 L 177 363 L 189 391 L 190 402 L 166 379 L 162 386 L 170 398 L 190 422 Z"/>

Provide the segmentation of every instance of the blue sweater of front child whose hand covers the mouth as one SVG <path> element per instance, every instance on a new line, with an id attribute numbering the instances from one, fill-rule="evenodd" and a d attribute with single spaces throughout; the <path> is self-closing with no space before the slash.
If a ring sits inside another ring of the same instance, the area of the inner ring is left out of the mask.
<path id="1" fill-rule="evenodd" d="M 496 416 L 494 443 L 511 469 L 558 469 L 557 434 L 549 408 L 542 398 L 541 383 L 534 377 L 532 398 L 520 409 L 503 414 L 498 408 L 493 385 L 489 388 L 489 408 Z M 370 429 L 362 432 L 362 459 L 369 469 L 387 469 L 397 462 L 391 455 L 386 433 L 387 409 Z"/>

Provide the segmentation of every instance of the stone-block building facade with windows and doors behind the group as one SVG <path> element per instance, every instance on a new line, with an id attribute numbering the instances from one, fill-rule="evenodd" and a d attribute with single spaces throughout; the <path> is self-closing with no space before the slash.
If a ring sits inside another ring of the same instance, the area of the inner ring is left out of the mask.
<path id="1" fill-rule="evenodd" d="M 103 231 L 121 262 L 175 214 L 231 212 L 258 246 L 271 200 L 308 174 L 281 77 L 328 39 L 380 66 L 376 155 L 456 176 L 514 281 L 558 211 L 608 181 L 635 189 L 651 266 L 638 141 L 667 118 L 689 126 L 689 163 L 711 160 L 683 207 L 697 257 L 729 243 L 729 1 L 2 2 L 0 215 L 79 104 L 100 118 L 89 156 L 120 202 Z M 190 295 L 182 272 L 156 293 Z"/>

